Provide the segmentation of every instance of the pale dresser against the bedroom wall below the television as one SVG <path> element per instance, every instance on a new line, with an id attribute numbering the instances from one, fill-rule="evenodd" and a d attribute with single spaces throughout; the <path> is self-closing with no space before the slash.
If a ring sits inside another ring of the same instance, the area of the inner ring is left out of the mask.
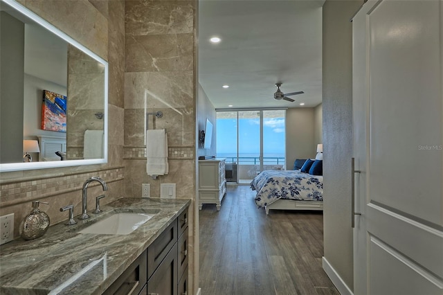
<path id="1" fill-rule="evenodd" d="M 220 210 L 226 195 L 225 160 L 199 160 L 199 209 L 203 204 L 215 204 Z"/>

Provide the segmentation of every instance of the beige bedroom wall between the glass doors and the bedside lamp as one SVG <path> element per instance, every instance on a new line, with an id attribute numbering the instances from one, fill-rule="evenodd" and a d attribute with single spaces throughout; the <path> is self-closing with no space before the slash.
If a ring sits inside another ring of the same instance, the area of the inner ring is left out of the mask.
<path id="1" fill-rule="evenodd" d="M 296 159 L 316 157 L 314 141 L 314 109 L 289 108 L 286 110 L 286 169 L 293 169 Z"/>

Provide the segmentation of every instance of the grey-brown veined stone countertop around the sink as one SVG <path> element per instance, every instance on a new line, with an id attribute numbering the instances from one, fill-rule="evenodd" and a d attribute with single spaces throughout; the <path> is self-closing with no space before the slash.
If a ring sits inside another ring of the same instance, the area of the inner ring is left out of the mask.
<path id="1" fill-rule="evenodd" d="M 0 294 L 102 294 L 189 205 L 190 199 L 118 199 L 89 220 L 3 244 Z M 78 233 L 116 212 L 156 214 L 129 235 Z"/>

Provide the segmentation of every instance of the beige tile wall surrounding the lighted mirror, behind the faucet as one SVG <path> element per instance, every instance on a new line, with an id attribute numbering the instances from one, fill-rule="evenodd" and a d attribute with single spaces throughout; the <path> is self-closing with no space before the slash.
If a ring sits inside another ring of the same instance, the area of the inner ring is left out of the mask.
<path id="1" fill-rule="evenodd" d="M 19 3 L 51 22 L 109 62 L 109 157 L 108 163 L 70 168 L 0 172 L 0 215 L 15 213 L 15 236 L 19 224 L 29 214 L 31 202 L 41 200 L 42 210 L 51 224 L 67 219 L 59 208 L 73 204 L 75 214 L 81 211 L 82 184 L 99 176 L 109 184 L 102 204 L 124 197 L 123 177 L 123 79 L 125 63 L 124 1 L 87 0 L 20 0 Z M 109 18 L 109 21 L 108 21 Z M 91 187 L 91 195 L 102 194 L 100 186 Z M 90 198 L 88 206 L 93 208 Z"/>

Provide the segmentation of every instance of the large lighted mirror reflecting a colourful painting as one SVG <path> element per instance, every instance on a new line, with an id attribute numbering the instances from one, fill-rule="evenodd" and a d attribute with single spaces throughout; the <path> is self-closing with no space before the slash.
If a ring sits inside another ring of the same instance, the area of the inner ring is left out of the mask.
<path id="1" fill-rule="evenodd" d="M 0 13 L 0 172 L 107 163 L 108 63 L 16 1 Z"/>

